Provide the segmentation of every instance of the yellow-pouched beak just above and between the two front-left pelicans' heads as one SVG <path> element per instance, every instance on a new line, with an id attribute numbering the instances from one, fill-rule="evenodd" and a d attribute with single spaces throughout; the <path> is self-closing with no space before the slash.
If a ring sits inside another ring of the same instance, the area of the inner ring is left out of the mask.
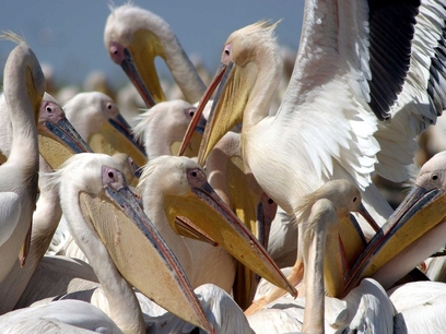
<path id="1" fill-rule="evenodd" d="M 133 136 L 129 123 L 121 115 L 104 122 L 99 131 L 89 138 L 89 144 L 97 153 L 127 153 L 138 166 L 148 162 L 144 145 Z"/>

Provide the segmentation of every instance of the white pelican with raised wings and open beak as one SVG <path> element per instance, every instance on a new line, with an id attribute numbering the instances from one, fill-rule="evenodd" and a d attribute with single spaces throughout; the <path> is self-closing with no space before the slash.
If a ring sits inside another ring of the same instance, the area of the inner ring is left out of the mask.
<path id="1" fill-rule="evenodd" d="M 360 188 L 382 225 L 392 210 L 372 183 L 372 172 L 407 179 L 415 134 L 443 110 L 444 69 L 435 48 L 443 41 L 444 15 L 435 1 L 419 9 L 406 2 L 307 0 L 293 75 L 274 116 L 268 110 L 282 71 L 274 25 L 234 32 L 223 47 L 223 71 L 210 85 L 226 79 L 199 164 L 227 129 L 243 121 L 244 160 L 289 214 L 304 194 L 343 178 Z M 377 118 L 390 116 L 391 121 L 377 124 Z M 368 238 L 376 230 L 363 227 Z"/>

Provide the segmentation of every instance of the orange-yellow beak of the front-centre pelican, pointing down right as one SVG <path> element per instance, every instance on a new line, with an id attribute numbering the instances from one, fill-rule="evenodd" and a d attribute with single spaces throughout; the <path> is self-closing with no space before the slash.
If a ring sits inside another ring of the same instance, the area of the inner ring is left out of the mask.
<path id="1" fill-rule="evenodd" d="M 296 289 L 256 237 L 215 193 L 203 171 L 191 168 L 187 170 L 187 177 L 190 192 L 181 196 L 171 194 L 164 198 L 164 207 L 172 228 L 178 232 L 174 224 L 175 217 L 186 216 L 251 271 L 296 296 Z"/>

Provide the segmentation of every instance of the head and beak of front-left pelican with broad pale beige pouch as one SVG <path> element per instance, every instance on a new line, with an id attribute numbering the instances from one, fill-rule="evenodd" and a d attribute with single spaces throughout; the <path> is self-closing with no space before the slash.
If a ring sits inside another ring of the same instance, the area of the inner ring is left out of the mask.
<path id="1" fill-rule="evenodd" d="M 59 187 L 66 216 L 80 214 L 89 227 L 70 224 L 73 235 L 96 232 L 130 285 L 174 314 L 212 332 L 186 274 L 113 157 L 77 154 L 48 177 L 50 184 Z"/>

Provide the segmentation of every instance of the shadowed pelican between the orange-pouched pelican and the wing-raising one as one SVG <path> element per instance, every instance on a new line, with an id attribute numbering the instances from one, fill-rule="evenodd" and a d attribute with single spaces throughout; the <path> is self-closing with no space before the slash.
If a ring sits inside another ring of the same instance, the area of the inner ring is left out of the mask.
<path id="1" fill-rule="evenodd" d="M 277 204 L 260 189 L 253 175 L 245 172 L 239 138 L 239 133 L 227 132 L 209 155 L 206 171 L 215 192 L 267 248 Z M 233 296 L 243 309 L 251 303 L 258 278 L 237 263 Z"/>

